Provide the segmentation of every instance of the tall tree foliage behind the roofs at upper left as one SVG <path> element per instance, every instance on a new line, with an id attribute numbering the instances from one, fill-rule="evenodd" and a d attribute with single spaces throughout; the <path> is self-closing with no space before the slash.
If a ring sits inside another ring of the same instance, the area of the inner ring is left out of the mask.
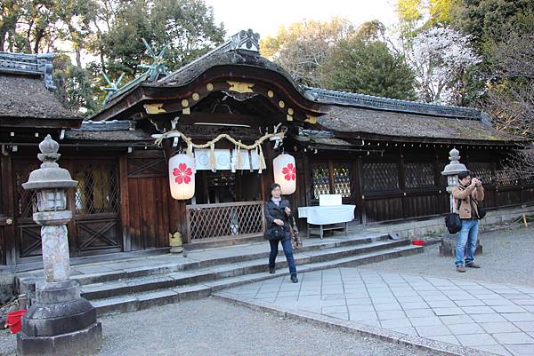
<path id="1" fill-rule="evenodd" d="M 223 25 L 214 23 L 203 0 L 0 2 L 0 51 L 57 53 L 59 95 L 68 107 L 87 114 L 105 96 L 101 72 L 110 78 L 125 73 L 127 80 L 142 71 L 139 64 L 150 63 L 142 38 L 155 51 L 168 46 L 166 65 L 173 70 L 220 44 L 223 36 Z"/>

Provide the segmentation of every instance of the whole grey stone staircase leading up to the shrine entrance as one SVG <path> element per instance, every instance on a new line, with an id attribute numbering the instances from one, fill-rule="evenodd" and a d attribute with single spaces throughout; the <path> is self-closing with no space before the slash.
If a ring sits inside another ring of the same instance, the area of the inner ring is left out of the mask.
<path id="1" fill-rule="evenodd" d="M 363 265 L 387 258 L 416 254 L 422 247 L 409 240 L 390 240 L 386 234 L 334 236 L 305 239 L 294 250 L 298 273 L 339 266 Z M 72 267 L 82 297 L 97 312 L 131 312 L 153 305 L 209 296 L 220 289 L 288 274 L 283 252 L 277 258 L 277 273 L 267 273 L 269 247 L 263 242 L 217 249 L 191 250 L 182 255 L 160 255 Z M 20 292 L 35 290 L 42 271 L 17 277 Z"/>

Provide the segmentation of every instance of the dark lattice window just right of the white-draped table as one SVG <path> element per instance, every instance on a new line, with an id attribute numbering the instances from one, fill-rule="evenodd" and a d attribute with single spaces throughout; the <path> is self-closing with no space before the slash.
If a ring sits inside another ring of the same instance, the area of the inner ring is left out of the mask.
<path id="1" fill-rule="evenodd" d="M 379 192 L 399 189 L 399 170 L 396 163 L 364 163 L 363 190 Z"/>

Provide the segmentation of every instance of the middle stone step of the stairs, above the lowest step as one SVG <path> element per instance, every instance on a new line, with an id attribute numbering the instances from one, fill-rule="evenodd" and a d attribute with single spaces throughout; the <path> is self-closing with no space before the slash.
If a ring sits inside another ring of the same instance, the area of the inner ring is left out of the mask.
<path id="1" fill-rule="evenodd" d="M 320 262 L 353 257 L 381 249 L 391 249 L 406 246 L 408 240 L 401 241 L 373 241 L 363 245 L 344 246 L 332 249 L 316 249 L 295 254 L 296 265 L 317 264 Z M 119 279 L 82 285 L 82 297 L 89 300 L 140 293 L 154 289 L 167 289 L 183 285 L 217 281 L 228 277 L 236 277 L 248 273 L 264 272 L 267 268 L 267 256 L 247 260 L 240 263 L 217 265 L 214 267 L 201 268 L 193 271 L 180 271 L 162 273 L 145 277 Z M 276 263 L 277 268 L 287 266 L 283 252 L 279 253 Z"/>

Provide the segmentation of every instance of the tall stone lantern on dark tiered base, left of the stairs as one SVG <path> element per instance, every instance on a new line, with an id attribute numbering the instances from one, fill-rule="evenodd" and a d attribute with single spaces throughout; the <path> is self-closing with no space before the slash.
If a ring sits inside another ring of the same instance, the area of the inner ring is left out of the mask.
<path id="1" fill-rule="evenodd" d="M 66 191 L 77 186 L 68 170 L 56 161 L 60 145 L 50 135 L 39 144 L 37 157 L 43 164 L 29 174 L 22 186 L 35 190 L 37 211 L 34 220 L 41 225 L 44 281 L 36 283 L 33 305 L 22 317 L 17 335 L 21 355 L 75 355 L 96 352 L 101 345 L 101 323 L 93 305 L 80 297 L 77 281 L 69 279 L 69 241 Z"/>

